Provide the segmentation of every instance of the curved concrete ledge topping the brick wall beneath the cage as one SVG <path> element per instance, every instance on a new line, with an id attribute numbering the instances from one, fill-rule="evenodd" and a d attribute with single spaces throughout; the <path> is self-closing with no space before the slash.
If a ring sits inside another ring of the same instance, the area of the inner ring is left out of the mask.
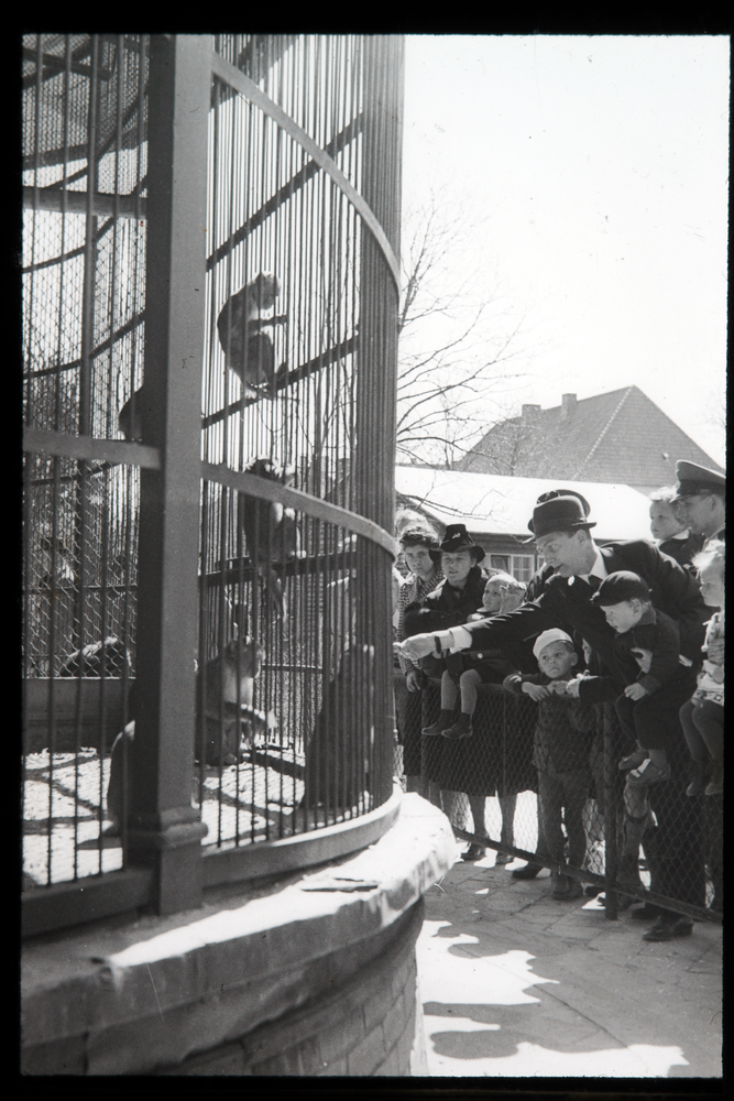
<path id="1" fill-rule="evenodd" d="M 237 897 L 217 890 L 172 917 L 28 942 L 25 1072 L 68 1073 L 66 1049 L 86 1073 L 140 1073 L 243 1037 L 363 967 L 454 851 L 441 811 L 406 795 L 375 844 L 320 871 Z"/>

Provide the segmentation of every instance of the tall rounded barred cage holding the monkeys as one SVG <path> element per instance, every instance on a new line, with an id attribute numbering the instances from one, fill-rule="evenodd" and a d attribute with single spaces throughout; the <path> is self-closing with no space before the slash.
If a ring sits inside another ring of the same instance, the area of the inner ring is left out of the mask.
<path id="1" fill-rule="evenodd" d="M 35 933 L 396 813 L 402 40 L 30 34 L 22 84 Z"/>

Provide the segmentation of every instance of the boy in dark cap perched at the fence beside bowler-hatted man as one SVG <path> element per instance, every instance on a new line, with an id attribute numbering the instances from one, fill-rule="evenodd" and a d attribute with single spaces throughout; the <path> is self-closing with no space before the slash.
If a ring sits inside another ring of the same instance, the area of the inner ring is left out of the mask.
<path id="1" fill-rule="evenodd" d="M 666 746 L 670 737 L 664 686 L 680 665 L 678 624 L 653 607 L 647 582 L 621 569 L 610 574 L 593 595 L 606 622 L 615 631 L 614 657 L 624 694 L 615 701 L 624 729 L 637 742 L 637 749 L 620 762 L 632 770 L 627 783 L 635 786 L 670 778 Z"/>

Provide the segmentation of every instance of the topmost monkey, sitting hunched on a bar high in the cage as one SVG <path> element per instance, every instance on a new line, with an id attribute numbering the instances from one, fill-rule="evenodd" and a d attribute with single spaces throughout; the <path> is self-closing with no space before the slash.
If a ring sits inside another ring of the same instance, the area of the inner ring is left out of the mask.
<path id="1" fill-rule="evenodd" d="M 261 310 L 275 305 L 280 293 L 275 275 L 260 272 L 230 295 L 217 318 L 224 362 L 241 381 L 245 397 L 272 397 L 275 381 L 285 369 L 282 364 L 275 370 L 273 340 L 262 331 L 264 326 L 284 321 L 285 316 L 259 317 Z"/>

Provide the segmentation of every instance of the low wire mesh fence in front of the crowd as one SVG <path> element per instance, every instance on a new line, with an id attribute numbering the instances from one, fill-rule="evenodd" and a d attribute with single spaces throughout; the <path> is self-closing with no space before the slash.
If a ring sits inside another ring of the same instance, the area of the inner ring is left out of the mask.
<path id="1" fill-rule="evenodd" d="M 497 864 L 525 860 L 530 874 L 549 868 L 557 895 L 567 880 L 585 883 L 589 894 L 604 890 L 610 916 L 649 901 L 721 919 L 722 796 L 687 795 L 693 768 L 682 731 L 669 753 L 670 780 L 645 786 L 620 768 L 634 744 L 625 741 L 613 705 L 588 707 L 576 767 L 556 770 L 541 760 L 539 770 L 538 705 L 527 696 L 480 685 L 472 733 L 460 739 L 421 732 L 441 713 L 439 680 L 408 694 L 398 677 L 396 700 L 405 773 L 419 770 L 420 791 L 443 807 L 457 837 L 479 847 L 475 854 L 485 847 Z M 570 701 L 552 706 L 562 716 Z M 580 891 L 572 887 L 569 896 Z"/>

